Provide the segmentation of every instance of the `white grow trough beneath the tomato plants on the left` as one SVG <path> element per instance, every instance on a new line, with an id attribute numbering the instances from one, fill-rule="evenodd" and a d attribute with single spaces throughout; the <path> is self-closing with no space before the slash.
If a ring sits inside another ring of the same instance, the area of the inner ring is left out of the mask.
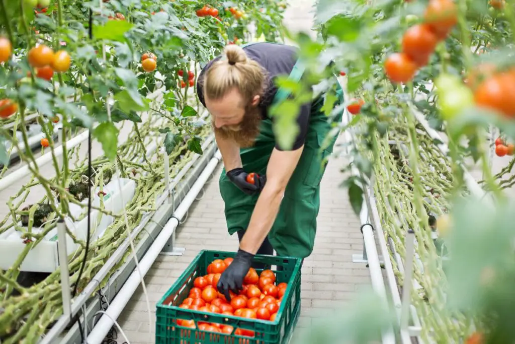
<path id="1" fill-rule="evenodd" d="M 120 188 L 118 180 L 121 182 L 122 194 L 120 194 Z M 119 178 L 112 179 L 107 185 L 104 186 L 104 207 L 106 210 L 113 212 L 114 214 L 119 213 L 134 197 L 136 190 L 136 183 L 131 179 Z M 100 198 L 98 196 L 99 188 L 95 190 L 94 199 L 92 200 L 93 206 L 100 205 Z M 87 204 L 88 199 L 82 201 Z M 82 212 L 85 212 L 84 208 L 76 204 L 70 204 L 70 212 L 76 218 Z M 88 233 L 88 217 L 84 217 L 82 220 L 73 222 L 71 218 L 67 217 L 64 219 L 66 227 L 72 232 L 78 240 L 85 241 Z M 91 235 L 90 244 L 95 242 L 99 237 L 104 234 L 107 227 L 113 222 L 113 217 L 102 214 L 98 210 L 91 211 Z M 21 223 L 20 223 L 21 225 Z M 43 228 L 33 227 L 33 233 L 41 232 Z M 0 234 L 0 269 L 9 269 L 20 254 L 25 249 L 25 243 L 21 238 L 20 232 L 11 228 L 7 232 Z M 58 240 L 57 240 L 57 227 L 50 231 L 45 238 L 38 243 L 38 245 L 31 249 L 27 254 L 23 263 L 20 267 L 21 271 L 32 271 L 32 272 L 54 272 L 59 267 L 59 256 L 57 251 Z M 73 254 L 79 247 L 73 239 L 66 236 L 66 249 L 68 256 Z"/>

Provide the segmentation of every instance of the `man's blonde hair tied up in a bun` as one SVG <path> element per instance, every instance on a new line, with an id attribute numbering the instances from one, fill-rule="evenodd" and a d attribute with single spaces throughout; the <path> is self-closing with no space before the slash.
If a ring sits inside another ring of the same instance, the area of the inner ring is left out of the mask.
<path id="1" fill-rule="evenodd" d="M 205 73 L 204 99 L 219 100 L 235 87 L 242 94 L 245 106 L 255 95 L 263 93 L 265 80 L 263 67 L 250 59 L 241 46 L 227 45 L 224 56 Z"/>

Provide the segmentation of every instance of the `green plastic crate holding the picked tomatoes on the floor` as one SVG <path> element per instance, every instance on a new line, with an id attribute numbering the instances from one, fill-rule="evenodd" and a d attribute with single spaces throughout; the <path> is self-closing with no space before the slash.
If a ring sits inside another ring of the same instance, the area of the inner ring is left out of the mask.
<path id="1" fill-rule="evenodd" d="M 275 321 L 246 319 L 179 308 L 187 298 L 193 281 L 207 274 L 208 265 L 215 259 L 234 257 L 234 252 L 201 251 L 176 283 L 159 300 L 156 310 L 156 344 L 286 344 L 300 315 L 301 259 L 269 255 L 256 255 L 256 263 L 265 269 L 281 267 L 276 273 L 276 284 L 286 282 L 288 287 L 281 301 Z M 258 274 L 261 273 L 261 270 Z M 177 319 L 194 320 L 196 329 L 177 325 Z M 232 334 L 201 331 L 198 322 L 218 323 L 234 327 Z M 234 334 L 236 329 L 254 331 L 254 337 Z"/>

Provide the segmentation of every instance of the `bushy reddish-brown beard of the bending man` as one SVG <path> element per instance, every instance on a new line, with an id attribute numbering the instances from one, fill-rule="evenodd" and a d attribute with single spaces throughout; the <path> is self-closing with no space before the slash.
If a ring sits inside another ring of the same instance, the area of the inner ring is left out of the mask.
<path id="1" fill-rule="evenodd" d="M 213 121 L 211 123 L 220 137 L 234 140 L 241 148 L 249 148 L 254 145 L 260 133 L 261 120 L 261 109 L 258 106 L 246 106 L 243 120 L 238 125 L 217 128 Z"/>

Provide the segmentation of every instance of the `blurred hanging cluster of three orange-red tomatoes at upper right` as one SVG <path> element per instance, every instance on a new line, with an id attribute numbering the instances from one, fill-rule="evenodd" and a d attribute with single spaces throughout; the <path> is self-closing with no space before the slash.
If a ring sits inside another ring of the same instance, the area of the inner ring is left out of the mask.
<path id="1" fill-rule="evenodd" d="M 393 83 L 413 79 L 420 67 L 429 62 L 438 42 L 444 40 L 458 22 L 457 6 L 453 0 L 430 0 L 424 23 L 411 26 L 402 38 L 402 52 L 385 60 L 384 68 Z"/>

